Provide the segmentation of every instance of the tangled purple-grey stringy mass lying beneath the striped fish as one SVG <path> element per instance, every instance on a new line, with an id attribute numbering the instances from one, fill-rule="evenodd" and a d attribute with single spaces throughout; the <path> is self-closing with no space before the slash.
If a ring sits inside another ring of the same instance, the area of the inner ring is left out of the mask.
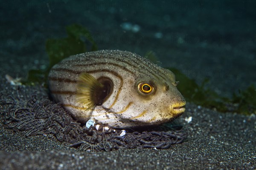
<path id="1" fill-rule="evenodd" d="M 40 98 L 37 91 L 29 97 L 11 95 L 3 99 L 0 94 L 0 103 L 10 104 L 4 111 L 5 122 L 14 131 L 27 131 L 26 135 L 53 135 L 59 141 L 65 141 L 71 147 L 79 147 L 84 151 L 111 151 L 126 148 L 157 148 L 167 149 L 172 144 L 181 143 L 186 133 L 179 131 L 143 131 L 127 132 L 125 138 L 117 132 L 100 132 L 91 127 L 82 126 L 74 120 L 61 104 L 54 104 L 49 99 Z"/>

